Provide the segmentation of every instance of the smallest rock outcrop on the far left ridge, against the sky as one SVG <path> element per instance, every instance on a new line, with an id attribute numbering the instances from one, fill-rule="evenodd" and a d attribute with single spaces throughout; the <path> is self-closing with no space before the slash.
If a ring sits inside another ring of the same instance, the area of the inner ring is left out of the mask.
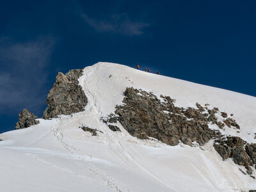
<path id="1" fill-rule="evenodd" d="M 31 125 L 39 124 L 39 121 L 36 120 L 36 118 L 37 116 L 30 113 L 27 109 L 22 109 L 19 113 L 19 122 L 15 124 L 15 129 L 24 129 Z"/>

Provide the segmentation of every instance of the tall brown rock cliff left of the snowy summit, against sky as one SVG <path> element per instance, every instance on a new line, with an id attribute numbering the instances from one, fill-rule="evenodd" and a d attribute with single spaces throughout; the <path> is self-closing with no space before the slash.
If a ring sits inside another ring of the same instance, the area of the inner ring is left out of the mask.
<path id="1" fill-rule="evenodd" d="M 65 75 L 58 73 L 56 82 L 47 95 L 47 108 L 43 118 L 56 118 L 58 115 L 70 115 L 84 111 L 84 106 L 88 101 L 77 80 L 82 74 L 81 69 L 70 70 Z"/>

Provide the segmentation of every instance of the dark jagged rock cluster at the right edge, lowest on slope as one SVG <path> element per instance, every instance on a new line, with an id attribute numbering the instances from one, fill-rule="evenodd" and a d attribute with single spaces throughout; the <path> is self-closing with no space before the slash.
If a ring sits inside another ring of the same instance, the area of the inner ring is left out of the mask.
<path id="1" fill-rule="evenodd" d="M 236 136 L 228 136 L 226 139 L 221 138 L 214 142 L 214 148 L 223 158 L 232 158 L 234 163 L 242 165 L 246 168 L 248 174 L 252 174 L 253 162 L 244 150 L 246 141 Z"/>

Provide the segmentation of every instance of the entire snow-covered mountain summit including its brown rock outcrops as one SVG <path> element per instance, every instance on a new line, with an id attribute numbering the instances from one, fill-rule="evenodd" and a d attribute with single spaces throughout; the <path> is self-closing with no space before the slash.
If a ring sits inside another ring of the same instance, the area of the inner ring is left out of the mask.
<path id="1" fill-rule="evenodd" d="M 124 65 L 59 72 L 42 118 L 0 134 L 0 189 L 250 191 L 255 116 L 255 97 Z"/>

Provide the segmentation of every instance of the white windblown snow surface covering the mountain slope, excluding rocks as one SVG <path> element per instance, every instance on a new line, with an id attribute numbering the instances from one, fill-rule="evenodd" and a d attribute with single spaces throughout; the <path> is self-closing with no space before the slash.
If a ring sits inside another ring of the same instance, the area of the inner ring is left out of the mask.
<path id="1" fill-rule="evenodd" d="M 198 102 L 233 113 L 240 132 L 221 132 L 255 143 L 255 97 L 115 63 L 84 68 L 79 83 L 88 97 L 83 112 L 40 119 L 38 125 L 0 134 L 0 191 L 256 189 L 256 180 L 244 175 L 239 168 L 245 169 L 232 159 L 222 161 L 211 141 L 201 148 L 182 143 L 172 147 L 156 140 L 138 140 L 120 124 L 122 132 L 113 132 L 100 120 L 122 104 L 125 88 L 133 86 L 157 96 L 169 95 L 180 107 L 196 108 Z M 92 136 L 81 125 L 102 133 Z"/>

